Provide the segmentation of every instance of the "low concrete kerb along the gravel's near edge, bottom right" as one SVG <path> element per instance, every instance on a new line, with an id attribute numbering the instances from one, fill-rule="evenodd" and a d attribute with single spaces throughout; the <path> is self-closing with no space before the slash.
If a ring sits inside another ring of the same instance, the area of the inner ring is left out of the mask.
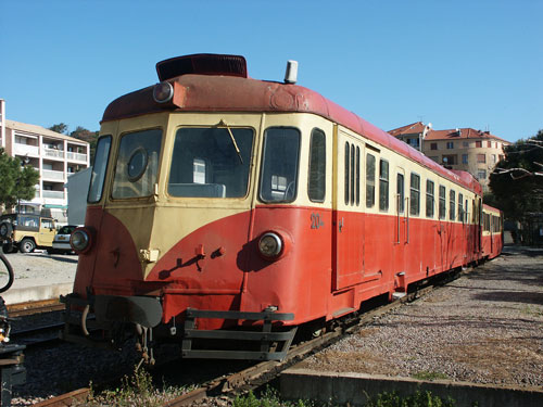
<path id="1" fill-rule="evenodd" d="M 283 371 L 280 377 L 281 397 L 294 400 L 313 399 L 319 403 L 363 406 L 368 398 L 379 393 L 396 392 L 407 396 L 417 391 L 430 391 L 442 398 L 451 397 L 458 407 L 543 406 L 543 390 L 538 389 L 489 386 L 449 380 L 422 381 L 365 373 L 318 372 L 295 367 Z"/>

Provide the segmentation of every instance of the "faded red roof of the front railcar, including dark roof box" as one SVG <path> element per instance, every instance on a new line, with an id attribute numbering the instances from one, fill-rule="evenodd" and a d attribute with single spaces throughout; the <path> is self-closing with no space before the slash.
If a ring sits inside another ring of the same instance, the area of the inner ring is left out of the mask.
<path id="1" fill-rule="evenodd" d="M 394 150 L 478 194 L 482 193 L 480 183 L 469 173 L 444 168 L 407 143 L 311 89 L 248 77 L 244 61 L 238 55 L 195 54 L 159 62 L 159 77 L 172 85 L 173 99 L 157 103 L 153 99 L 154 86 L 150 86 L 111 102 L 102 122 L 166 110 L 313 113 Z"/>

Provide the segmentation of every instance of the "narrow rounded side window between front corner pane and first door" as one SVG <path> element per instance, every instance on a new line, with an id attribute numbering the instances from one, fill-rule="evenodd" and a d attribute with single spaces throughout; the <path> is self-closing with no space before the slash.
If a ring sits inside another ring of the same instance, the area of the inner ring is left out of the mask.
<path id="1" fill-rule="evenodd" d="M 326 195 L 326 138 L 323 130 L 313 129 L 310 144 L 310 181 L 307 195 L 313 202 L 324 202 Z"/>

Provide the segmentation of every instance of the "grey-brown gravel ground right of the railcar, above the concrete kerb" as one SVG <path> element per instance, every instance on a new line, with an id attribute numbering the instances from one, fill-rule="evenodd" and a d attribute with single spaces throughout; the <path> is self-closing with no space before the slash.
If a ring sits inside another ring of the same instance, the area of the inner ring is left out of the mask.
<path id="1" fill-rule="evenodd" d="M 504 254 L 300 367 L 543 389 L 543 251 Z"/>

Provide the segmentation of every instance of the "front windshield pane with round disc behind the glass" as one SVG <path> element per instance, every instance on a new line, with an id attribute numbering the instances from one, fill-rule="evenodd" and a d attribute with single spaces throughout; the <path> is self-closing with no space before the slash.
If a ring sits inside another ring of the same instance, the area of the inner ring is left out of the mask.
<path id="1" fill-rule="evenodd" d="M 112 196 L 149 196 L 159 173 L 162 130 L 129 132 L 121 139 Z"/>

